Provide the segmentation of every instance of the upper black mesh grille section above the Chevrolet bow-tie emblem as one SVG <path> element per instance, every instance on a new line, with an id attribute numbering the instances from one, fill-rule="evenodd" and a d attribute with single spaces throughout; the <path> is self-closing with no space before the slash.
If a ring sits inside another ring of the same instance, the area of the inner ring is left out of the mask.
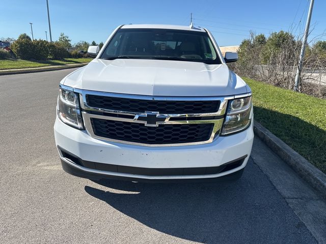
<path id="1" fill-rule="evenodd" d="M 155 111 L 160 114 L 195 114 L 214 113 L 219 110 L 220 101 L 169 101 L 169 100 L 142 100 L 130 98 L 105 97 L 86 95 L 87 105 L 93 108 L 110 109 L 144 113 Z"/>

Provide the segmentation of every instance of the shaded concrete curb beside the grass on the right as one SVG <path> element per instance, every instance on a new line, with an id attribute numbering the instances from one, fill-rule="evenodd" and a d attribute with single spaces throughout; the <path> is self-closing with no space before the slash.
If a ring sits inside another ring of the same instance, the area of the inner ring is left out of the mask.
<path id="1" fill-rule="evenodd" d="M 274 153 L 305 179 L 309 185 L 326 196 L 326 174 L 256 121 L 254 121 L 254 132 Z"/>

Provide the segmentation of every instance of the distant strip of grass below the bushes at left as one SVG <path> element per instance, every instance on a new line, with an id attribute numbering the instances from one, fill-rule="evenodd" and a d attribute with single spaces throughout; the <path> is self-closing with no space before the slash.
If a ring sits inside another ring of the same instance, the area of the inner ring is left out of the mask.
<path id="1" fill-rule="evenodd" d="M 61 60 L 23 60 L 23 59 L 0 59 L 0 70 L 36 68 L 52 65 L 80 64 L 90 62 L 93 58 L 65 58 Z"/>

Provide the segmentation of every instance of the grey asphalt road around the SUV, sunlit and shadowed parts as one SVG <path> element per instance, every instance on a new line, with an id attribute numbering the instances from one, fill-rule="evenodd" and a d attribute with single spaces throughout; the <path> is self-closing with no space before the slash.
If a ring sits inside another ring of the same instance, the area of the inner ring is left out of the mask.
<path id="1" fill-rule="evenodd" d="M 0 243 L 322 242 L 289 203 L 300 192 L 322 200 L 291 169 L 289 187 L 262 171 L 283 163 L 257 139 L 233 183 L 99 184 L 65 173 L 52 127 L 71 71 L 0 76 Z"/>

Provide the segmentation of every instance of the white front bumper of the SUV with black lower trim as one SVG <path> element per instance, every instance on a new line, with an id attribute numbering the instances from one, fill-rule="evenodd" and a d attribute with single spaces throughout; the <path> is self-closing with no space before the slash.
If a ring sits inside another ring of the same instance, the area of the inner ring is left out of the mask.
<path id="1" fill-rule="evenodd" d="M 68 173 L 135 181 L 212 179 L 240 174 L 248 162 L 254 138 L 252 124 L 243 132 L 221 136 L 211 143 L 171 147 L 95 139 L 86 131 L 67 126 L 58 117 L 54 129 L 62 165 Z M 235 161 L 238 164 L 234 166 Z M 229 164 L 233 167 L 226 168 Z"/>

